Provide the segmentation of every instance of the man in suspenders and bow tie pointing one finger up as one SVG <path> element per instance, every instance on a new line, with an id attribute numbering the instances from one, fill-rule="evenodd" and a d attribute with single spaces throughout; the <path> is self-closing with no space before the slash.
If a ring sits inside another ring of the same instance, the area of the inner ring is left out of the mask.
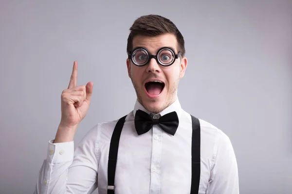
<path id="1" fill-rule="evenodd" d="M 75 151 L 74 134 L 90 106 L 93 83 L 76 86 L 74 62 L 35 193 L 87 194 L 98 187 L 99 194 L 238 194 L 229 138 L 183 111 L 178 100 L 187 67 L 181 32 L 162 16 L 141 16 L 130 28 L 127 52 L 137 94 L 133 111 L 96 125 Z"/>

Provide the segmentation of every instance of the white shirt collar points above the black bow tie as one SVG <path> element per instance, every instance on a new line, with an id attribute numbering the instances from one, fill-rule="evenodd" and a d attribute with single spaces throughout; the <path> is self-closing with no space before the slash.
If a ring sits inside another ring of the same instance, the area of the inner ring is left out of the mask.
<path id="1" fill-rule="evenodd" d="M 142 104 L 138 100 L 136 100 L 134 110 L 133 110 L 134 117 L 135 117 L 136 111 L 139 109 L 148 114 L 150 113 L 144 108 L 144 106 L 142 106 Z M 160 115 L 163 116 L 164 114 L 171 113 L 173 111 L 175 111 L 178 114 L 178 117 L 180 118 L 181 113 L 182 113 L 182 107 L 178 98 L 176 98 L 176 100 L 171 105 L 169 105 L 166 109 L 160 112 Z"/>

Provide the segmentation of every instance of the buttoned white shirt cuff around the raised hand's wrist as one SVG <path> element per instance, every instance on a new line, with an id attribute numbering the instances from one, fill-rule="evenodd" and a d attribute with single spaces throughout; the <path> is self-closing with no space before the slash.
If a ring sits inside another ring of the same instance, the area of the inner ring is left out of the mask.
<path id="1" fill-rule="evenodd" d="M 47 162 L 50 163 L 64 163 L 73 161 L 74 157 L 74 143 L 53 143 L 54 140 L 49 141 Z"/>

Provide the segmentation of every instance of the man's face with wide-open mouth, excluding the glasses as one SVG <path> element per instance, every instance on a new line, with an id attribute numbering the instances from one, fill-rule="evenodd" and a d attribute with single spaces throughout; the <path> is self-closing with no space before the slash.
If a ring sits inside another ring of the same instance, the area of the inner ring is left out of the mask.
<path id="1" fill-rule="evenodd" d="M 133 49 L 137 47 L 146 48 L 149 55 L 156 55 L 162 47 L 174 49 L 175 54 L 179 52 L 176 37 L 169 33 L 158 36 L 137 35 L 133 39 Z M 170 66 L 159 65 L 154 58 L 144 66 L 136 66 L 127 59 L 128 76 L 138 101 L 146 110 L 160 113 L 176 100 L 179 80 L 183 77 L 186 66 L 187 60 L 182 57 Z"/>

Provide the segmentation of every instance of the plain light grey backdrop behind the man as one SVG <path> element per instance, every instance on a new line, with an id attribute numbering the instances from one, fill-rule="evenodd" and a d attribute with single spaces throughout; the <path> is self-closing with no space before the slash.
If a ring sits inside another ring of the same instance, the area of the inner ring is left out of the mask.
<path id="1" fill-rule="evenodd" d="M 78 85 L 94 82 L 75 144 L 132 110 L 128 29 L 146 14 L 183 33 L 180 102 L 230 137 L 240 193 L 291 193 L 292 0 L 1 0 L 0 194 L 33 193 L 74 60 Z"/>

